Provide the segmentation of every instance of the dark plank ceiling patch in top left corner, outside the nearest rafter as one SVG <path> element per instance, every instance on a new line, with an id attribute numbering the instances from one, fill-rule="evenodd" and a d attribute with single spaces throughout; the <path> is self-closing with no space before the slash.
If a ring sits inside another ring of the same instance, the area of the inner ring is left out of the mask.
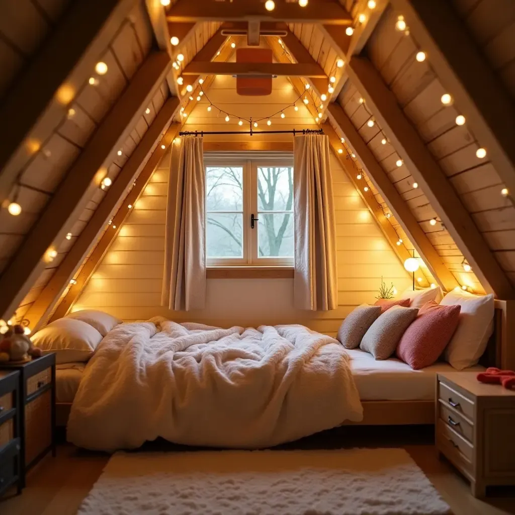
<path id="1" fill-rule="evenodd" d="M 70 0 L 15 0 L 0 7 L 0 99 L 52 32 Z"/>

